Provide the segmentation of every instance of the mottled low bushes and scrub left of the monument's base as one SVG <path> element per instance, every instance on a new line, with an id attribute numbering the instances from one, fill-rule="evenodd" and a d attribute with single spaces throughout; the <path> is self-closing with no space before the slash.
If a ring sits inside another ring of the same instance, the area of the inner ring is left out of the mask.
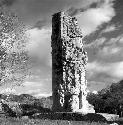
<path id="1" fill-rule="evenodd" d="M 50 112 L 50 109 L 43 105 L 41 99 L 36 99 L 28 94 L 11 94 L 9 98 L 7 95 L 1 95 L 0 104 L 5 115 L 11 117 L 31 116 L 35 113 Z"/>

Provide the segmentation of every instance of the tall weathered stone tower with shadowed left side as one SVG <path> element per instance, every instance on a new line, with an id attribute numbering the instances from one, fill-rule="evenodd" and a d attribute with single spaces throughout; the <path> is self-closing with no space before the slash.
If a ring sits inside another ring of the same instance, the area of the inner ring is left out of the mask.
<path id="1" fill-rule="evenodd" d="M 88 58 L 77 19 L 64 12 L 54 14 L 51 38 L 53 111 L 94 113 L 86 100 Z"/>

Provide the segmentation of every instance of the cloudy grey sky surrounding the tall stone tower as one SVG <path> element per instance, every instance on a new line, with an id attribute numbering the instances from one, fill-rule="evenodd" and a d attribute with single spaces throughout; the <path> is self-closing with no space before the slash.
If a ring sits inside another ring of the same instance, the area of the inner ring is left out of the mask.
<path id="1" fill-rule="evenodd" d="M 88 53 L 88 89 L 99 91 L 123 79 L 123 0 L 0 0 L 1 6 L 28 27 L 27 49 L 37 61 L 23 87 L 12 90 L 16 94 L 51 95 L 51 20 L 59 11 L 78 19 Z"/>

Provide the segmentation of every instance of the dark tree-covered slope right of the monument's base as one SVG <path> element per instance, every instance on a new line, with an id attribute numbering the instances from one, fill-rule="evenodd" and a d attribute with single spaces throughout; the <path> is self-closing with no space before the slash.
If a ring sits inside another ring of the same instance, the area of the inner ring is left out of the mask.
<path id="1" fill-rule="evenodd" d="M 98 94 L 89 93 L 89 103 L 95 107 L 96 112 L 118 114 L 123 116 L 123 80 L 113 83 Z"/>

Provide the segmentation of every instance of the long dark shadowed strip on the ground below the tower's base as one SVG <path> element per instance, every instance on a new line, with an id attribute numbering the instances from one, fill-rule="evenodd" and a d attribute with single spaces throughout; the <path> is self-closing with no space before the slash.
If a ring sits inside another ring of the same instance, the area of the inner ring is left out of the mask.
<path id="1" fill-rule="evenodd" d="M 49 119 L 49 120 L 69 120 L 69 121 L 90 121 L 90 122 L 107 122 L 106 118 L 100 114 L 89 113 L 86 115 L 78 113 L 40 113 L 31 116 L 34 119 Z"/>

